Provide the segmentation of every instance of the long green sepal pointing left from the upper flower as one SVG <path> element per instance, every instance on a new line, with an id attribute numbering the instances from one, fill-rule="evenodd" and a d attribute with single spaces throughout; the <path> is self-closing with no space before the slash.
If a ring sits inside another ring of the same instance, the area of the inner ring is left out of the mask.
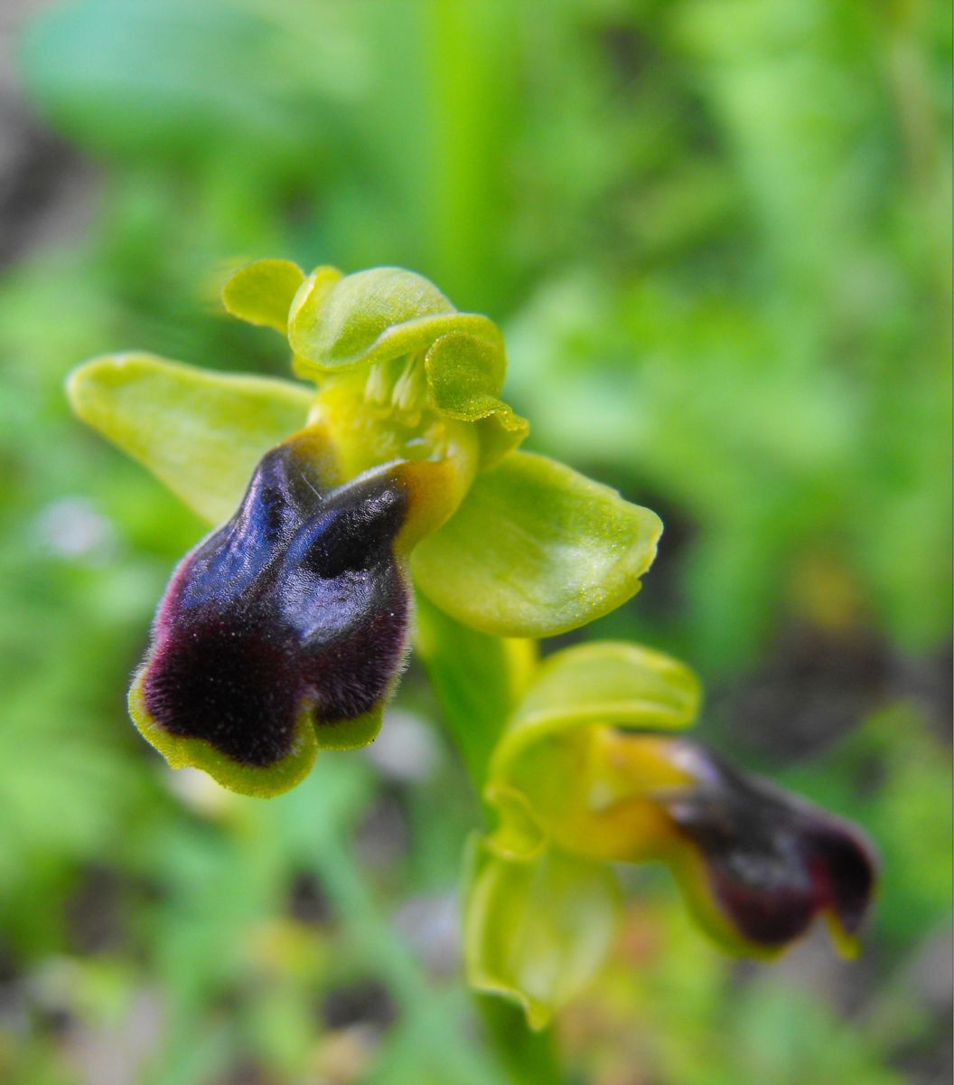
<path id="1" fill-rule="evenodd" d="M 70 374 L 74 411 L 209 523 L 234 511 L 262 456 L 307 420 L 288 381 L 233 376 L 147 354 L 94 358 Z"/>

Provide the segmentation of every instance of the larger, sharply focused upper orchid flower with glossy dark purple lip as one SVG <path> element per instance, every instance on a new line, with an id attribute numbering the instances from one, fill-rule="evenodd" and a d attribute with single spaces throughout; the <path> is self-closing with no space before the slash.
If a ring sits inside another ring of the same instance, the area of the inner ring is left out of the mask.
<path id="1" fill-rule="evenodd" d="M 500 398 L 487 317 L 399 268 L 259 260 L 222 298 L 287 336 L 299 380 L 128 353 L 67 385 L 83 421 L 214 525 L 172 574 L 129 695 L 172 767 L 267 796 L 319 749 L 371 742 L 412 585 L 501 637 L 566 631 L 639 590 L 659 519 L 518 450 L 528 426 Z"/>

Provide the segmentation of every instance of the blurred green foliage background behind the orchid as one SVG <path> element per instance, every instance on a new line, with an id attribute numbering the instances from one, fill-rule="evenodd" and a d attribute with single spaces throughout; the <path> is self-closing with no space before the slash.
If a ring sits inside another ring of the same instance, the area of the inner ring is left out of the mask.
<path id="1" fill-rule="evenodd" d="M 273 255 L 498 320 L 528 447 L 666 521 L 579 636 L 689 661 L 709 741 L 880 851 L 851 963 L 823 932 L 729 960 L 641 871 L 566 1082 L 950 1081 L 946 8 L 4 0 L 0 1080 L 516 1080 L 461 981 L 481 814 L 416 668 L 370 753 L 269 803 L 126 718 L 203 526 L 63 379 L 128 347 L 284 373 L 216 301 Z"/>

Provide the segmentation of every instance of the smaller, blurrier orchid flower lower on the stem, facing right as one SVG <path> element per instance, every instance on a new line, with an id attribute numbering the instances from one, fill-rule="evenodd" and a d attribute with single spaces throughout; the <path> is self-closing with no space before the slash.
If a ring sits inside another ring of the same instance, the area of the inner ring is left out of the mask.
<path id="1" fill-rule="evenodd" d="M 592 642 L 539 665 L 503 731 L 464 918 L 468 978 L 544 1025 L 605 959 L 621 909 L 614 865 L 661 861 L 702 929 L 771 957 L 817 916 L 852 955 L 875 859 L 852 826 L 743 775 L 676 733 L 694 674 L 635 644 Z"/>

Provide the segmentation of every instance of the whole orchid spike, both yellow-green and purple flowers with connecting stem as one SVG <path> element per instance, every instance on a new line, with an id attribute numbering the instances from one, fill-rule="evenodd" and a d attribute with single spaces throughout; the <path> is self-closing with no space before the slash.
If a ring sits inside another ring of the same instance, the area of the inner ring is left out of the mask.
<path id="1" fill-rule="evenodd" d="M 871 845 L 684 737 L 701 703 L 688 667 L 610 642 L 541 660 L 540 638 L 639 590 L 662 525 L 520 450 L 497 326 L 399 268 L 259 260 L 223 302 L 286 337 L 297 382 L 142 354 L 68 382 L 80 418 L 212 525 L 130 690 L 169 765 L 244 794 L 294 787 L 320 750 L 374 740 L 416 628 L 493 821 L 466 860 L 476 990 L 545 1027 L 609 952 L 620 864 L 665 864 L 730 952 L 772 956 L 820 916 L 854 952 Z"/>

